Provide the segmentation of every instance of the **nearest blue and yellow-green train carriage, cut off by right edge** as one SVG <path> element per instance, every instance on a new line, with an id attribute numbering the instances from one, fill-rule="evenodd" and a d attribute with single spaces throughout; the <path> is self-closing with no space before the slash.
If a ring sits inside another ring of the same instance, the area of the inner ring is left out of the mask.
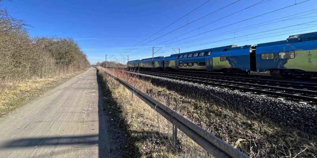
<path id="1" fill-rule="evenodd" d="M 317 32 L 289 36 L 287 40 L 258 44 L 256 69 L 286 77 L 316 76 Z"/>

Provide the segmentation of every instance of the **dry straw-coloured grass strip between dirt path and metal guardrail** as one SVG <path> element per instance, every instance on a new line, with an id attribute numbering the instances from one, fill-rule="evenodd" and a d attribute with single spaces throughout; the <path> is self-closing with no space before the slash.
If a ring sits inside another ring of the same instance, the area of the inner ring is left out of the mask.
<path id="1" fill-rule="evenodd" d="M 119 124 L 126 128 L 129 135 L 125 146 L 128 149 L 126 157 L 211 157 L 180 131 L 179 142 L 174 144 L 171 123 L 136 96 L 131 99 L 130 91 L 106 76 L 104 70 L 99 67 L 99 73 L 107 84 L 106 106 L 118 117 Z M 146 90 L 146 85 L 142 83 L 133 84 Z"/>

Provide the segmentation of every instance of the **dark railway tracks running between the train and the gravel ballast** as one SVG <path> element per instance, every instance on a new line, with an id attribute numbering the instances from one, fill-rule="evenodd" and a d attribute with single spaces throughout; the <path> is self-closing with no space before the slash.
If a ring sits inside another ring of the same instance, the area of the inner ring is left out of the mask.
<path id="1" fill-rule="evenodd" d="M 126 69 L 124 69 L 126 70 Z M 187 82 L 202 83 L 217 87 L 230 88 L 234 91 L 254 93 L 259 95 L 272 95 L 278 99 L 292 99 L 302 104 L 317 103 L 317 83 L 289 81 L 267 76 L 230 76 L 221 73 L 193 73 L 191 71 L 159 71 L 138 70 L 141 74 L 183 80 Z"/>

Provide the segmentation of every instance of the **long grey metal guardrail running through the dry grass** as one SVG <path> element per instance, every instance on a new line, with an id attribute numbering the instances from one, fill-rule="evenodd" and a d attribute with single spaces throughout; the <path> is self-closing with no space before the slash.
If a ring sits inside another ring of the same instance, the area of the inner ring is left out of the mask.
<path id="1" fill-rule="evenodd" d="M 107 72 L 106 72 L 107 73 Z M 212 135 L 208 131 L 194 124 L 190 120 L 184 118 L 182 115 L 178 114 L 174 110 L 160 103 L 159 101 L 153 99 L 151 96 L 143 93 L 139 89 L 134 88 L 132 85 L 124 82 L 120 78 L 107 73 L 109 76 L 113 77 L 124 87 L 129 89 L 132 93 L 138 96 L 141 100 L 146 102 L 152 109 L 161 114 L 165 119 L 176 126 L 185 135 L 194 140 L 197 144 L 203 147 L 211 155 L 217 158 L 249 158 L 249 156 L 243 154 L 239 150 L 225 143 L 218 137 Z"/>

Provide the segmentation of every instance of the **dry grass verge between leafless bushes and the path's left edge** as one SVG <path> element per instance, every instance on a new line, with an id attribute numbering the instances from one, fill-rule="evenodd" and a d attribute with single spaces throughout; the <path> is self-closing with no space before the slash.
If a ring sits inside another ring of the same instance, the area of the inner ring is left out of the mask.
<path id="1" fill-rule="evenodd" d="M 7 83 L 6 88 L 0 92 L 0 118 L 82 72 L 73 72 L 54 78 L 30 79 L 20 83 Z"/>

